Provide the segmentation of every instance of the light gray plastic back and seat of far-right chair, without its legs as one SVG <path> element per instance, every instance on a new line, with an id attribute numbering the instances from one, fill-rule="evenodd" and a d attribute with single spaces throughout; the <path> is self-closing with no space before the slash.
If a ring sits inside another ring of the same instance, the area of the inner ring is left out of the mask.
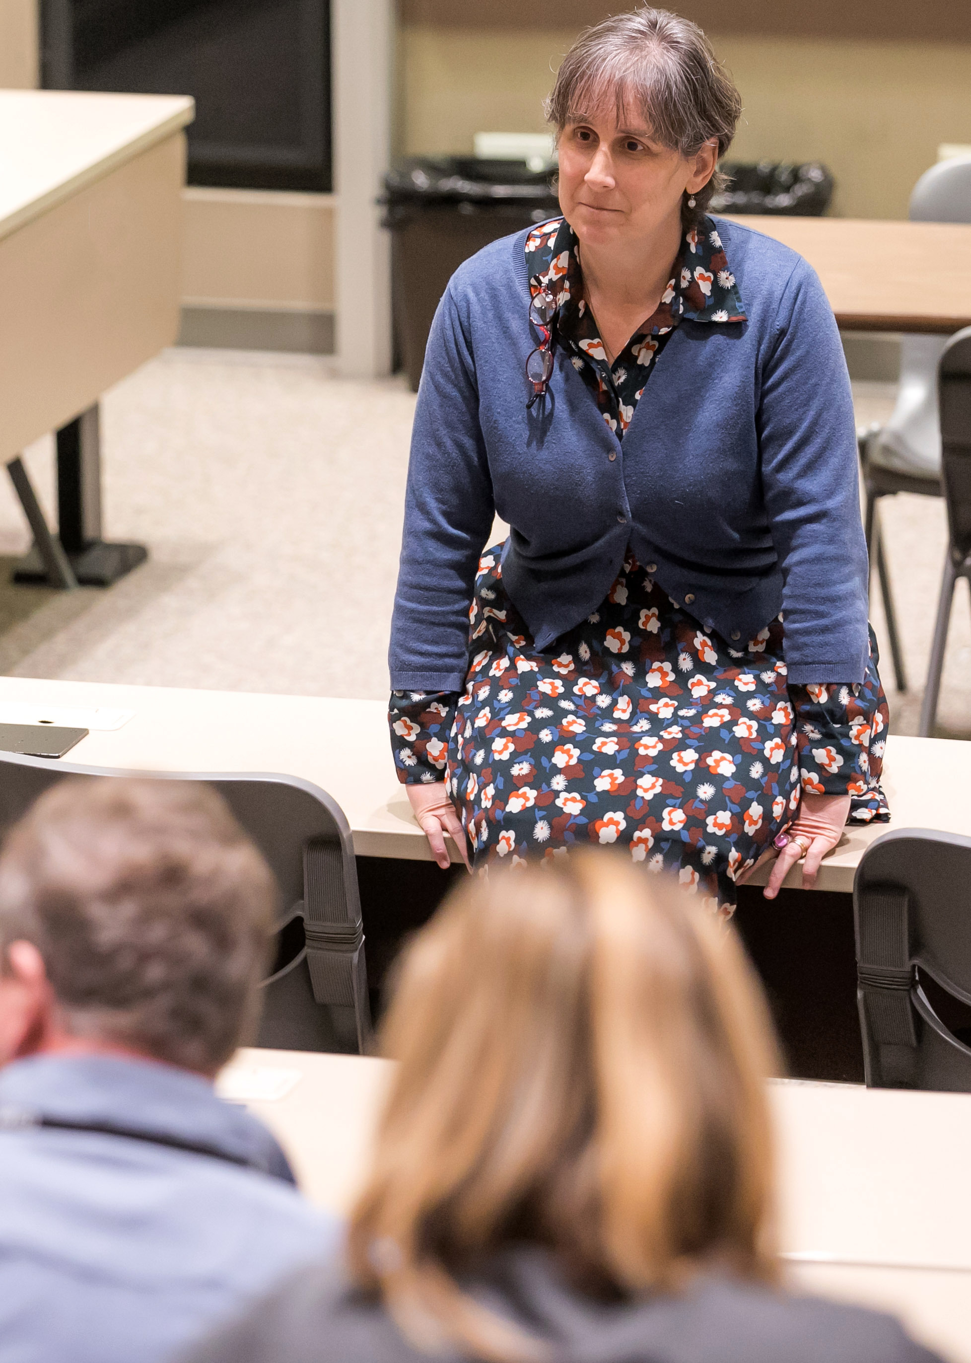
<path id="1" fill-rule="evenodd" d="M 911 222 L 971 222 L 971 157 L 940 161 L 926 170 L 910 196 Z M 888 282 L 892 288 L 892 282 Z M 904 335 L 893 413 L 880 432 L 878 446 L 891 451 L 900 472 L 937 477 L 941 469 L 941 432 L 937 412 L 937 365 L 946 337 Z"/>

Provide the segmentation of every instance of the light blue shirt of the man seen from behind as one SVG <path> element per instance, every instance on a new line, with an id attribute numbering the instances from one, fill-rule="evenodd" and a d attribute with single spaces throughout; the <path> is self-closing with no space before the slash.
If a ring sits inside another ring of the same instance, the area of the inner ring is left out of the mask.
<path id="1" fill-rule="evenodd" d="M 336 1223 L 285 1182 L 266 1127 L 200 1075 L 34 1056 L 0 1071 L 0 1109 L 135 1127 L 274 1171 L 117 1135 L 0 1130 L 0 1363 L 169 1359 L 334 1249 Z"/>

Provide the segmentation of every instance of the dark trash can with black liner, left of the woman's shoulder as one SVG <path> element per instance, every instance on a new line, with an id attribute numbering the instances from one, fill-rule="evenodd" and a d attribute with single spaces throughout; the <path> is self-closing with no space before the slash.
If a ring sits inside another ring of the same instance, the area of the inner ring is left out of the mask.
<path id="1" fill-rule="evenodd" d="M 560 211 L 553 173 L 528 170 L 519 161 L 422 157 L 385 176 L 395 346 L 413 391 L 449 278 L 490 241 Z"/>

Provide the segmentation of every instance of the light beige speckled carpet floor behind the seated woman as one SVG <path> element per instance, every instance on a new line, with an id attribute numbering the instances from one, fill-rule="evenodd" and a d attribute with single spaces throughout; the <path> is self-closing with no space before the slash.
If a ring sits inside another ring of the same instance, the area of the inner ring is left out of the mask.
<path id="1" fill-rule="evenodd" d="M 858 384 L 861 423 L 892 384 Z M 170 350 L 104 401 L 109 537 L 147 564 L 109 592 L 14 587 L 27 547 L 0 492 L 0 671 L 18 676 L 383 698 L 414 395 L 355 383 L 327 360 Z M 50 440 L 27 451 L 52 504 Z M 944 507 L 888 499 L 891 572 L 911 690 L 884 682 L 914 732 L 946 542 Z M 876 600 L 874 624 L 882 639 Z M 942 733 L 971 736 L 971 612 L 959 585 Z"/>

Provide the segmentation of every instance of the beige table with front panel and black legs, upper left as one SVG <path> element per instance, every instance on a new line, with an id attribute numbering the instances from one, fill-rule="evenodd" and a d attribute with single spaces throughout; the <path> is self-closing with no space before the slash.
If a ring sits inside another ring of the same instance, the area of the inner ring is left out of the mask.
<path id="1" fill-rule="evenodd" d="M 178 333 L 193 109 L 182 95 L 0 90 L 0 459 L 57 431 L 60 541 L 89 585 L 146 556 L 101 536 L 97 402 Z M 16 577 L 45 581 L 41 556 Z"/>

